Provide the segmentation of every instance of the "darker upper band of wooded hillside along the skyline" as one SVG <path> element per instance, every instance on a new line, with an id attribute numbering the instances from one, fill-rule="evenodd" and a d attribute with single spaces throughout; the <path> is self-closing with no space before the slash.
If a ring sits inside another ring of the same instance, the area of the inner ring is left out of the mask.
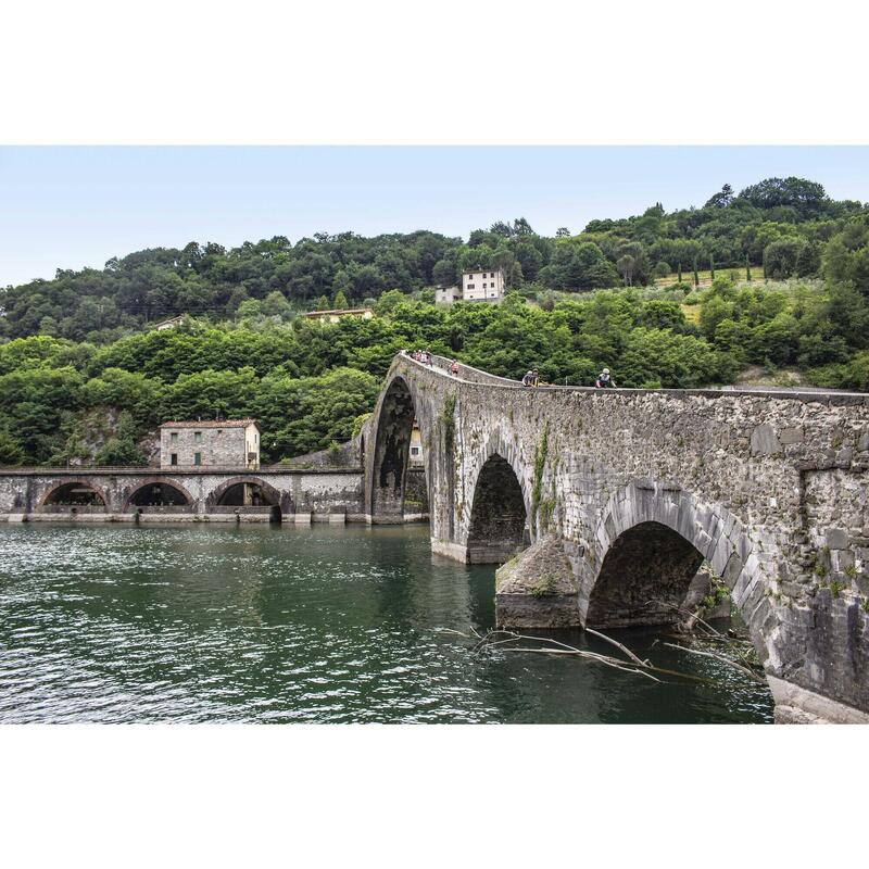
<path id="1" fill-rule="evenodd" d="M 691 280 L 695 267 L 710 266 L 804 277 L 818 273 L 827 244 L 849 221 L 866 216 L 865 205 L 833 201 L 819 184 L 769 178 L 738 196 L 725 185 L 703 207 L 667 213 L 655 204 L 640 216 L 592 221 L 578 235 L 559 229 L 555 238 L 519 218 L 474 230 L 467 242 L 428 231 L 317 234 L 294 244 L 276 236 L 231 250 L 191 241 L 0 290 L 0 337 L 104 343 L 177 314 L 221 319 L 250 300 L 280 314 L 339 291 L 362 303 L 387 290 L 449 286 L 469 268 L 501 267 L 509 286 L 527 293 L 644 286 L 680 273 Z"/>

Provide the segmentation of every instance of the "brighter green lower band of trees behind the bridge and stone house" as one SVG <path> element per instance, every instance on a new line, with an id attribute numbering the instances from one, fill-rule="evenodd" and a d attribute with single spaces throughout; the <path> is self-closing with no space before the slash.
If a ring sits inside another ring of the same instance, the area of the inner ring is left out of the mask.
<path id="1" fill-rule="evenodd" d="M 370 320 L 188 319 L 104 347 L 14 339 L 0 345 L 0 463 L 135 464 L 159 423 L 217 414 L 257 417 L 265 461 L 323 449 L 351 437 L 404 348 L 514 378 L 534 365 L 558 383 L 591 385 L 608 365 L 620 386 L 698 387 L 732 382 L 753 363 L 869 389 L 867 297 L 851 282 L 771 286 L 719 275 L 689 297 L 695 304 L 678 289 L 624 289 L 551 310 L 517 293 L 501 305 L 439 307 L 395 292 Z M 95 430 L 113 415 L 95 452 Z"/>

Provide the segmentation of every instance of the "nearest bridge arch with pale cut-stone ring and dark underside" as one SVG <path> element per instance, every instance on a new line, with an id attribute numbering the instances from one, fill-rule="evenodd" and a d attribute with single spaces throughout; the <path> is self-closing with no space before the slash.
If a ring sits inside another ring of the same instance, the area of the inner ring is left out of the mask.
<path id="1" fill-rule="evenodd" d="M 633 482 L 610 498 L 581 561 L 580 618 L 590 628 L 678 620 L 672 605 L 706 558 L 727 583 L 760 659 L 774 669 L 779 626 L 765 564 L 779 557 L 766 541 L 761 562 L 750 530 L 726 507 L 667 483 Z"/>

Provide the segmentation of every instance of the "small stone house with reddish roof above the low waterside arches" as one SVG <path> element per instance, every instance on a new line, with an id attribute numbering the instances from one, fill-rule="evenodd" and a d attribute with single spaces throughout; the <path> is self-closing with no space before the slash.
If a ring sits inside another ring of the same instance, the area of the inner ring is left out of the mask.
<path id="1" fill-rule="evenodd" d="M 259 468 L 260 427 L 255 419 L 164 423 L 160 466 Z"/>

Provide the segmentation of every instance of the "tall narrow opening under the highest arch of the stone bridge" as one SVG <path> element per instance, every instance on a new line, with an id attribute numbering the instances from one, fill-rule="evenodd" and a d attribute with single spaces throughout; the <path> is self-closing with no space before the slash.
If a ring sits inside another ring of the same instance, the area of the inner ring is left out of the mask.
<path id="1" fill-rule="evenodd" d="M 380 403 L 371 479 L 371 516 L 379 521 L 402 521 L 408 477 L 413 482 L 407 513 L 428 508 L 425 482 L 426 456 L 421 438 L 414 437 L 416 410 L 407 382 L 395 377 Z M 416 429 L 417 434 L 419 429 Z M 412 442 L 418 452 L 412 454 Z M 410 475 L 408 475 L 410 471 Z M 420 484 L 421 478 L 421 484 Z M 425 490 L 425 499 L 421 498 Z"/>

